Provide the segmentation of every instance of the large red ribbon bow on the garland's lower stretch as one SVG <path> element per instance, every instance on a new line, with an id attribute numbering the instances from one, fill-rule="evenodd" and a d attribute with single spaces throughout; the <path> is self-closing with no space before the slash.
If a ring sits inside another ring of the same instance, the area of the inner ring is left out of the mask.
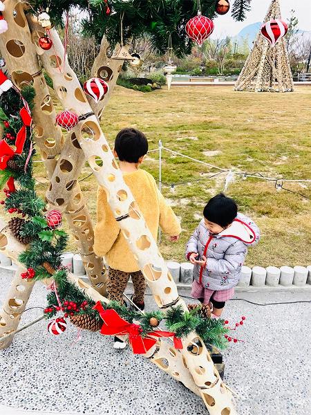
<path id="1" fill-rule="evenodd" d="M 175 333 L 171 331 L 151 331 L 147 333 L 146 337 L 142 338 L 142 327 L 138 324 L 126 322 L 115 310 L 105 310 L 101 302 L 97 302 L 93 309 L 100 313 L 100 317 L 104 321 L 100 333 L 103 335 L 129 335 L 129 343 L 135 354 L 147 353 L 156 344 L 157 340 L 151 336 L 157 338 L 173 337 L 175 349 L 182 349 L 181 339 L 176 338 Z"/>

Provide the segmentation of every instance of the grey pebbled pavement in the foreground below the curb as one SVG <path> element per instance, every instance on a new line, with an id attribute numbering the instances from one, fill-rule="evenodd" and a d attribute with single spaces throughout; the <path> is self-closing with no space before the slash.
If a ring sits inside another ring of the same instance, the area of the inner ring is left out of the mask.
<path id="1" fill-rule="evenodd" d="M 0 303 L 9 283 L 10 277 L 0 274 Z M 28 308 L 44 306 L 45 293 L 37 284 Z M 237 296 L 254 302 L 294 302 L 310 299 L 310 292 Z M 156 308 L 151 296 L 147 303 Z M 39 315 L 38 309 L 26 312 L 22 324 Z M 234 323 L 242 315 L 247 320 L 236 334 L 245 343 L 225 352 L 225 382 L 239 394 L 238 414 L 310 415 L 310 304 L 228 303 L 225 318 Z M 53 337 L 46 325 L 43 320 L 17 334 L 11 347 L 0 351 L 1 415 L 207 414 L 198 396 L 150 362 L 129 349 L 111 349 L 111 338 L 84 331 L 73 343 L 73 326 Z"/>

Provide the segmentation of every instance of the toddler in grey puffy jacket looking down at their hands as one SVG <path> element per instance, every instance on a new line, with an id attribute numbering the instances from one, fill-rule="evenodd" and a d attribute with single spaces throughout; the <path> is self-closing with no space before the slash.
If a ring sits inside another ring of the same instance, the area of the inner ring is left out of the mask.
<path id="1" fill-rule="evenodd" d="M 191 295 L 212 305 L 214 317 L 220 317 L 225 302 L 234 296 L 247 248 L 258 243 L 260 232 L 224 194 L 210 199 L 203 215 L 186 248 L 186 257 L 194 264 Z"/>

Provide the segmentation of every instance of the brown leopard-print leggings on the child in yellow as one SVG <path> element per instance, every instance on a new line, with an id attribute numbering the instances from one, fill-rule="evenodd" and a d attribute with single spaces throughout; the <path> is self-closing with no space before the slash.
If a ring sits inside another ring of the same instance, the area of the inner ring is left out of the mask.
<path id="1" fill-rule="evenodd" d="M 134 302 L 144 302 L 144 292 L 146 291 L 146 281 L 141 271 L 135 273 L 124 273 L 109 267 L 109 279 L 107 284 L 108 298 L 118 302 L 123 302 L 123 294 L 129 277 L 132 277 L 134 286 Z"/>

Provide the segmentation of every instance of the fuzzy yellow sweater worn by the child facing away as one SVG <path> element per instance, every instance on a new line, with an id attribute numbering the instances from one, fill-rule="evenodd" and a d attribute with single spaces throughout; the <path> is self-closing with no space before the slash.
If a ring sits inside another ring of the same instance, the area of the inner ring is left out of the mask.
<path id="1" fill-rule="evenodd" d="M 159 225 L 169 236 L 179 235 L 180 223 L 160 194 L 156 181 L 144 170 L 124 173 L 124 181 L 137 201 L 153 238 L 157 238 Z M 97 224 L 95 226 L 94 252 L 105 257 L 106 263 L 117 270 L 133 273 L 140 268 L 120 232 L 120 226 L 111 212 L 103 187 L 97 190 Z"/>

